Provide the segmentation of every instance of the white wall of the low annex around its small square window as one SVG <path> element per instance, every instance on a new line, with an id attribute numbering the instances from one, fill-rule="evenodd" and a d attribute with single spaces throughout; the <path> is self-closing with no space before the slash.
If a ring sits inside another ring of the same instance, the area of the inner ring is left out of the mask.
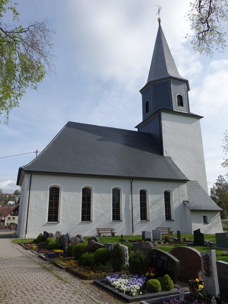
<path id="1" fill-rule="evenodd" d="M 208 216 L 208 224 L 203 223 L 203 215 Z M 200 232 L 210 234 L 223 232 L 222 222 L 220 214 L 217 211 L 192 211 L 192 233 L 196 229 L 200 229 Z"/>

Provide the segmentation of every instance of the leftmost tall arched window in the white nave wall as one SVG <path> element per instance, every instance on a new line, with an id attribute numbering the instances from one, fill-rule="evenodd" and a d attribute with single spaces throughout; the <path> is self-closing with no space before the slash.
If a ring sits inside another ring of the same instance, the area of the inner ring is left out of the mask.
<path id="1" fill-rule="evenodd" d="M 49 188 L 48 222 L 57 222 L 59 217 L 59 188 Z"/>

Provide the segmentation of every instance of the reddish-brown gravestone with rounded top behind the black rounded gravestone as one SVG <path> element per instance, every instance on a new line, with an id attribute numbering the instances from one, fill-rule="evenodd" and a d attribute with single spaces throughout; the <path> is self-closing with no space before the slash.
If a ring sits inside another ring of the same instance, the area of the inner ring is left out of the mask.
<path id="1" fill-rule="evenodd" d="M 169 251 L 169 254 L 173 255 L 180 261 L 178 280 L 188 282 L 192 278 L 199 278 L 201 276 L 201 256 L 200 252 L 191 247 L 174 247 Z"/>

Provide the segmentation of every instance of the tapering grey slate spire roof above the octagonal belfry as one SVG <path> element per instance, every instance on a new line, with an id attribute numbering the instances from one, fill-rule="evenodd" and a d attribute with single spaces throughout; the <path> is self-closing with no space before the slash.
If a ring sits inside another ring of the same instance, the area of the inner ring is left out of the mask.
<path id="1" fill-rule="evenodd" d="M 168 47 L 168 43 L 165 39 L 159 22 L 147 83 L 167 77 L 178 78 L 182 81 L 186 81 L 188 85 L 188 80 L 180 76 L 178 73 L 177 67 L 174 63 L 173 57 Z"/>

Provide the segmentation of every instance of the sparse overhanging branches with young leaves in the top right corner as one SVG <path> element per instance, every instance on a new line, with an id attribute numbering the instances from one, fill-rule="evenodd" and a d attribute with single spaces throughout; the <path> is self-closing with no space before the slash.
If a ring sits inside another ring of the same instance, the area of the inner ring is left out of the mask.
<path id="1" fill-rule="evenodd" d="M 228 0 L 194 0 L 189 7 L 185 18 L 191 22 L 194 34 L 186 34 L 185 38 L 191 39 L 195 52 L 210 57 L 215 50 L 223 52 L 227 47 L 223 26 L 228 24 Z"/>

